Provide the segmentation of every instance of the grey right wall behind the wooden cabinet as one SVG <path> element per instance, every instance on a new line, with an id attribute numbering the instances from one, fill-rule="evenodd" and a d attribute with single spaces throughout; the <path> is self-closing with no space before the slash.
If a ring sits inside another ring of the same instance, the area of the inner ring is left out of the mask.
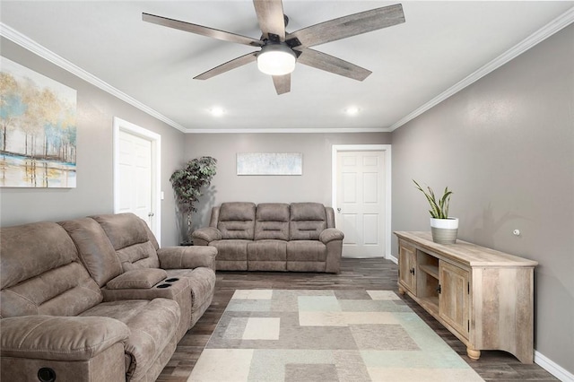
<path id="1" fill-rule="evenodd" d="M 459 237 L 539 262 L 535 349 L 574 372 L 574 26 L 393 132 L 393 230 L 429 230 L 411 179 L 454 190 Z M 521 232 L 513 236 L 512 230 Z M 396 240 L 393 254 L 396 255 Z"/>

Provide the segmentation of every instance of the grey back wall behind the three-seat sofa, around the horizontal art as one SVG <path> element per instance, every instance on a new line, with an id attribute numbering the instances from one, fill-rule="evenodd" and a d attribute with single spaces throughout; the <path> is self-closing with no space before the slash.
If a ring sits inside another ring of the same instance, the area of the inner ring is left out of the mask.
<path id="1" fill-rule="evenodd" d="M 390 143 L 389 133 L 187 135 L 187 160 L 211 155 L 218 161 L 217 175 L 200 201 L 194 226 L 209 223 L 211 207 L 223 202 L 318 202 L 331 205 L 332 146 L 387 143 Z M 238 152 L 301 152 L 303 175 L 238 176 Z"/>

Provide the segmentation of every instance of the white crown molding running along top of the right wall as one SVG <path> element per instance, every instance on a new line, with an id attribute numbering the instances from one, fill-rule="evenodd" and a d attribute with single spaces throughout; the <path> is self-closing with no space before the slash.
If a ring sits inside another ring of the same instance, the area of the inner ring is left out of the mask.
<path id="1" fill-rule="evenodd" d="M 413 112 L 411 112 L 410 114 L 396 121 L 395 124 L 389 127 L 389 131 L 395 131 L 400 126 L 403 126 L 404 124 L 413 120 L 414 118 L 419 117 L 425 111 L 435 107 L 443 100 L 447 100 L 448 97 L 456 94 L 458 91 L 462 91 L 463 89 L 465 89 L 465 87 L 480 80 L 485 75 L 490 74 L 494 70 L 498 69 L 500 66 L 508 63 L 510 60 L 523 54 L 524 52 L 526 52 L 526 50 L 544 41 L 544 39 L 548 39 L 554 33 L 569 26 L 572 22 L 574 22 L 574 7 L 570 8 L 565 13 L 562 13 L 560 16 L 552 20 L 552 22 L 549 22 L 546 25 L 544 25 L 544 27 L 542 27 L 541 29 L 536 30 L 526 39 L 523 39 L 522 41 L 517 43 L 517 45 L 515 45 L 514 47 L 509 48 L 509 50 L 507 50 L 500 56 L 494 58 L 488 64 L 483 65 L 483 67 L 479 68 L 473 74 L 469 74 L 460 82 L 457 82 L 455 85 L 451 86 L 446 91 L 441 92 L 438 96 L 428 101 L 420 108 L 413 110 Z"/>

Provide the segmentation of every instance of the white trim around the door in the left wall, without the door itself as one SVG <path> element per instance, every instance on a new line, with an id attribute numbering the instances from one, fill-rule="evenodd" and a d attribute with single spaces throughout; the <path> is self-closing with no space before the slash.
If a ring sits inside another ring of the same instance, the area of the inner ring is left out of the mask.
<path id="1" fill-rule="evenodd" d="M 161 246 L 161 135 L 143 127 L 114 117 L 113 127 L 113 166 L 114 166 L 114 213 L 119 210 L 119 132 L 137 135 L 152 143 L 152 213 L 156 221 L 153 235 Z"/>

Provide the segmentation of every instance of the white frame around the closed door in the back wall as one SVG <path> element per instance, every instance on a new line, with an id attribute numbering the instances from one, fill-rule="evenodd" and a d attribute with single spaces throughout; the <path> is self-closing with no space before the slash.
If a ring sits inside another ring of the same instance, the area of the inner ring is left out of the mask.
<path id="1" fill-rule="evenodd" d="M 391 145 L 390 144 L 334 144 L 332 146 L 331 157 L 331 205 L 335 208 L 335 220 L 337 216 L 337 153 L 339 152 L 383 152 L 385 156 L 385 182 L 387 187 L 385 189 L 386 200 L 385 209 L 387 216 L 385 217 L 385 227 L 387 232 L 381 232 L 385 238 L 385 258 L 392 259 L 391 256 Z"/>

